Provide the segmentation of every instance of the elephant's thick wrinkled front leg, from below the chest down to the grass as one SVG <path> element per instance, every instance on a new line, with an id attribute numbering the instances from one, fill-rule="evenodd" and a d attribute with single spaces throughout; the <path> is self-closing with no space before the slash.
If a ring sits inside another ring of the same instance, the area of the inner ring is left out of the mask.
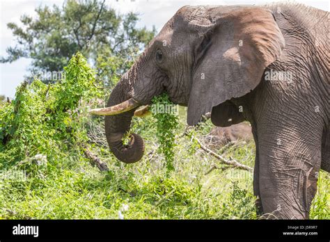
<path id="1" fill-rule="evenodd" d="M 272 133 L 258 129 L 262 211 L 270 218 L 306 219 L 316 193 L 322 127 L 286 124 L 268 130 Z"/>

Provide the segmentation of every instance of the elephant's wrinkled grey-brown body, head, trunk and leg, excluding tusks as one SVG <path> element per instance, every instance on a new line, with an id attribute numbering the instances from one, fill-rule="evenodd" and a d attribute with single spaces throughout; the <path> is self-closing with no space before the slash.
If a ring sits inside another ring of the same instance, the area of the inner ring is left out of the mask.
<path id="1" fill-rule="evenodd" d="M 330 170 L 327 19 L 328 12 L 300 5 L 185 6 L 120 80 L 108 106 L 131 97 L 150 104 L 166 91 L 188 106 L 189 125 L 210 111 L 221 127 L 249 120 L 260 213 L 308 218 L 317 173 Z M 266 80 L 270 70 L 292 79 Z M 127 146 L 120 140 L 133 113 L 105 120 L 111 150 L 127 163 L 143 156 L 139 136 Z"/>

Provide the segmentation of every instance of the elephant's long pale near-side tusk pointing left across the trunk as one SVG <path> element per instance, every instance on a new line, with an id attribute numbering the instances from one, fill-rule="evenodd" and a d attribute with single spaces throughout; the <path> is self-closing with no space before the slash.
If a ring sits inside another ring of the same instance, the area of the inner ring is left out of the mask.
<path id="1" fill-rule="evenodd" d="M 127 101 L 117 104 L 115 106 L 92 109 L 91 111 L 89 111 L 89 113 L 95 115 L 117 115 L 132 110 L 133 108 L 136 108 L 140 105 L 141 104 L 139 104 L 139 102 L 136 102 L 134 99 L 130 98 Z"/>

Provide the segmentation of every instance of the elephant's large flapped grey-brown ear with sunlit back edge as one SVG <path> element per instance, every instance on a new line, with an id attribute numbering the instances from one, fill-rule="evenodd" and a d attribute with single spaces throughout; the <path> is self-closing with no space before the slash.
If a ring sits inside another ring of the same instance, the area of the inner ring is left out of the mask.
<path id="1" fill-rule="evenodd" d="M 202 35 L 194 53 L 188 103 L 187 122 L 195 125 L 212 107 L 256 88 L 285 43 L 274 16 L 263 8 L 234 8 L 215 21 L 191 19 L 190 28 Z"/>

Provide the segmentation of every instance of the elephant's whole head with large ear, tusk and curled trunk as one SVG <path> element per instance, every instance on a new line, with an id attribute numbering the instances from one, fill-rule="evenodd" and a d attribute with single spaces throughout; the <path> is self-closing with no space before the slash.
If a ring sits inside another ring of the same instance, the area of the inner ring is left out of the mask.
<path id="1" fill-rule="evenodd" d="M 143 156 L 143 140 L 132 134 L 123 145 L 138 106 L 166 91 L 175 104 L 188 106 L 189 125 L 212 111 L 212 122 L 223 126 L 242 119 L 221 106 L 256 88 L 265 67 L 284 46 L 283 36 L 269 10 L 238 6 L 184 6 L 165 24 L 123 76 L 109 98 L 105 128 L 113 154 L 125 163 Z M 212 110 L 213 108 L 213 110 Z M 214 109 L 222 111 L 217 115 Z"/>

